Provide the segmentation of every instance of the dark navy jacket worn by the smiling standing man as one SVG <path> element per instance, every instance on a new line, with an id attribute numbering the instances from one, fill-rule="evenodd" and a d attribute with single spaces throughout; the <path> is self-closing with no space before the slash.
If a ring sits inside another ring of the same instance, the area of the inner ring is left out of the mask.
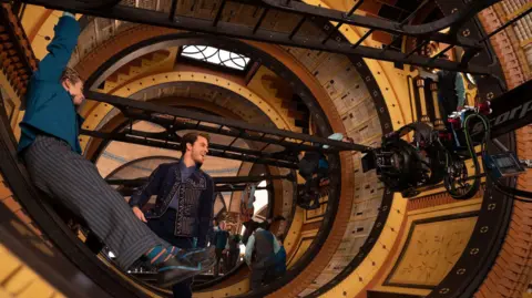
<path id="1" fill-rule="evenodd" d="M 150 176 L 149 182 L 131 196 L 130 206 L 142 208 L 152 195 L 156 195 L 155 207 L 145 213 L 146 219 L 161 217 L 177 194 L 174 235 L 197 237 L 197 247 L 205 247 L 214 208 L 214 182 L 209 175 L 197 168 L 181 182 L 178 163 L 160 165 Z"/>

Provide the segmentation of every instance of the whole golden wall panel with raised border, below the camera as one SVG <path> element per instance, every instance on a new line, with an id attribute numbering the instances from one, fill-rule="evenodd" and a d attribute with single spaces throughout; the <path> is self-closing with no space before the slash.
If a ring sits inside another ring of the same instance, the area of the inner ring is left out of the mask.
<path id="1" fill-rule="evenodd" d="M 481 203 L 482 198 L 477 197 L 408 212 L 406 233 L 393 253 L 393 263 L 387 265 L 372 289 L 413 295 L 430 292 L 461 256 Z M 423 263 L 418 264 L 421 259 Z M 408 284 L 413 279 L 419 281 Z"/>

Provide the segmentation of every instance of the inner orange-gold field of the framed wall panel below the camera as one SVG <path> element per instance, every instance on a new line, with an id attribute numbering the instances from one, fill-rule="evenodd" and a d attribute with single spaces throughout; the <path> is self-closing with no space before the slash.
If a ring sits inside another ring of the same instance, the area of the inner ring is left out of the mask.
<path id="1" fill-rule="evenodd" d="M 385 286 L 432 288 L 462 255 L 478 212 L 415 220 Z"/>

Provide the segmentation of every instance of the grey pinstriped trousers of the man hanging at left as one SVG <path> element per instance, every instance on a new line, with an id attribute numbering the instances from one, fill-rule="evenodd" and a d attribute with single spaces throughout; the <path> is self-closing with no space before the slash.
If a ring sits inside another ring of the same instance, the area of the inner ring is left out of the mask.
<path id="1" fill-rule="evenodd" d="M 23 158 L 34 185 L 59 199 L 116 255 L 126 270 L 156 245 L 167 245 L 133 214 L 94 164 L 59 138 L 38 135 Z"/>

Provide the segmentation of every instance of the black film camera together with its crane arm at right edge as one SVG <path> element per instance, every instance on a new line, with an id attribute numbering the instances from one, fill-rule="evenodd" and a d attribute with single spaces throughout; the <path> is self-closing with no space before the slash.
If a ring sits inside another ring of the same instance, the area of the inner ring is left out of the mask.
<path id="1" fill-rule="evenodd" d="M 365 152 L 362 169 L 376 169 L 388 189 L 400 192 L 405 197 L 413 197 L 442 183 L 452 197 L 470 198 L 485 176 L 501 192 L 532 198 L 531 193 L 500 183 L 500 178 L 519 175 L 532 163 L 518 160 L 515 153 L 497 140 L 532 122 L 531 90 L 532 81 L 529 81 L 493 101 L 466 106 L 449 115 L 442 131 L 423 122 L 405 125 L 385 135 L 380 147 Z M 413 136 L 409 142 L 405 138 L 410 133 Z M 492 144 L 501 152 L 489 153 L 488 146 Z M 473 173 L 468 172 L 468 160 L 472 161 Z"/>

